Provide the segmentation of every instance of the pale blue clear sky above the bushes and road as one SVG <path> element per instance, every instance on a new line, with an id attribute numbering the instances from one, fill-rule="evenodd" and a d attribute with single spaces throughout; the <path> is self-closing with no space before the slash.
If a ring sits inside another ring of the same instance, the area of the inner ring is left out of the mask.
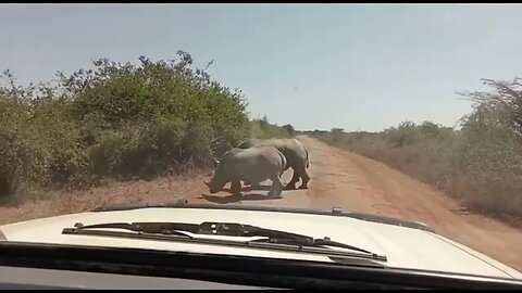
<path id="1" fill-rule="evenodd" d="M 298 129 L 452 126 L 457 91 L 522 77 L 519 4 L 1 4 L 0 68 L 21 82 L 91 61 L 189 52 L 266 115 Z"/>

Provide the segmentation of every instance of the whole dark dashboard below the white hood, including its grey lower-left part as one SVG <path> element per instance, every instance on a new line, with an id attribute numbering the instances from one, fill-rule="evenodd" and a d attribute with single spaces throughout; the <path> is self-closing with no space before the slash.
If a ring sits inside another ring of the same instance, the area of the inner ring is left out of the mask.
<path id="1" fill-rule="evenodd" d="M 8 241 L 0 241 L 0 289 L 522 289 L 521 280 L 352 260 L 331 264 Z"/>

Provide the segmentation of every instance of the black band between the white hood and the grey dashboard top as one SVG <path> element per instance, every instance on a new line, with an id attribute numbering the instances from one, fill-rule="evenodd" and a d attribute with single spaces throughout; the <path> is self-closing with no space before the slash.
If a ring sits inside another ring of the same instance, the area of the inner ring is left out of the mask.
<path id="1" fill-rule="evenodd" d="M 522 281 L 167 251 L 0 241 L 0 265 L 283 289 L 522 289 Z"/>

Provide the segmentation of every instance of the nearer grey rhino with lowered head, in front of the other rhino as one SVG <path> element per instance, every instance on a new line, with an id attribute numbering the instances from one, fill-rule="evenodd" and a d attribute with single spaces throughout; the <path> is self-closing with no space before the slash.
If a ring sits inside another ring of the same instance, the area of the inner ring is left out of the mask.
<path id="1" fill-rule="evenodd" d="M 209 182 L 204 182 L 211 193 L 216 193 L 227 182 L 232 182 L 232 194 L 240 195 L 241 180 L 257 183 L 270 179 L 273 183 L 269 196 L 281 198 L 284 184 L 279 177 L 287 168 L 287 161 L 276 148 L 234 148 L 223 154 L 216 164 L 214 176 Z"/>

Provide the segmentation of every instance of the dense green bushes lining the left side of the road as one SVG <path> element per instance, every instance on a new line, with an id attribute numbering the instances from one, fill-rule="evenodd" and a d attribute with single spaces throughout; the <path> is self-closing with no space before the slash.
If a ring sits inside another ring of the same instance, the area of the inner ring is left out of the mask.
<path id="1" fill-rule="evenodd" d="M 291 136 L 289 125 L 250 120 L 240 90 L 195 67 L 189 53 L 177 55 L 138 64 L 100 59 L 29 86 L 3 72 L 0 195 L 186 174 L 249 136 Z"/>

